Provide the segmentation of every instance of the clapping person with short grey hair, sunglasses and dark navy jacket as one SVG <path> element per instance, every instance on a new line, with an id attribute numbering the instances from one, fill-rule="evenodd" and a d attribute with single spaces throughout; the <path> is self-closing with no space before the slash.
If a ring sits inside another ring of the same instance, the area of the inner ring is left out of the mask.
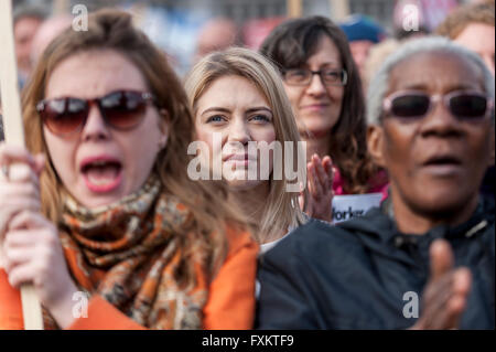
<path id="1" fill-rule="evenodd" d="M 475 53 L 420 39 L 388 57 L 367 103 L 390 196 L 266 254 L 260 328 L 494 329 L 494 199 L 478 192 L 495 159 L 493 75 Z"/>

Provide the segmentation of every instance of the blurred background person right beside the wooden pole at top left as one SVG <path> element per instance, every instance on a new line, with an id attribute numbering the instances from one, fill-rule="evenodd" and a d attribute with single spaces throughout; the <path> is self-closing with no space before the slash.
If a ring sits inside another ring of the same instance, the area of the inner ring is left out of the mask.
<path id="1" fill-rule="evenodd" d="M 14 10 L 13 33 L 21 87 L 24 86 L 32 68 L 30 55 L 33 38 L 45 18 L 45 11 L 39 7 L 25 6 Z"/>

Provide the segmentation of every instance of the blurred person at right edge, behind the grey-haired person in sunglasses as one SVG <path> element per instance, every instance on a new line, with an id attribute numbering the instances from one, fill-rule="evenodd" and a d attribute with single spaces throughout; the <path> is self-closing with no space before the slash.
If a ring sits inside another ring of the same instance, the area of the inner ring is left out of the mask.
<path id="1" fill-rule="evenodd" d="M 460 7 L 436 29 L 436 33 L 477 53 L 495 74 L 495 2 L 481 1 Z M 484 194 L 496 195 L 496 169 L 487 169 L 481 186 Z"/>

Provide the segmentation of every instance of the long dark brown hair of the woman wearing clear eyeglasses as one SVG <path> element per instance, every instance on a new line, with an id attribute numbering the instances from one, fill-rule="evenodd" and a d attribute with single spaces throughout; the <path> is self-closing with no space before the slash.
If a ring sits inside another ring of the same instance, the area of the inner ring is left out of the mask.
<path id="1" fill-rule="evenodd" d="M 272 60 L 282 74 L 285 70 L 305 65 L 324 35 L 339 51 L 343 68 L 348 76 L 339 119 L 331 131 L 333 138 L 328 153 L 346 180 L 345 190 L 349 193 L 365 193 L 376 169 L 367 153 L 362 81 L 345 33 L 325 17 L 293 19 L 281 23 L 267 36 L 260 46 L 260 53 Z"/>

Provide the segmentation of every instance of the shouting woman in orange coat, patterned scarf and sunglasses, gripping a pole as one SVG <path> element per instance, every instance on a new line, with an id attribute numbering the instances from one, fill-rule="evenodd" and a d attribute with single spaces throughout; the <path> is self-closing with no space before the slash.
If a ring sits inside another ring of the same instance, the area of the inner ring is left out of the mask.
<path id="1" fill-rule="evenodd" d="M 130 15 L 54 40 L 24 93 L 29 152 L 0 147 L 0 291 L 33 284 L 46 329 L 251 328 L 257 245 L 222 185 L 187 177 L 186 96 Z"/>

